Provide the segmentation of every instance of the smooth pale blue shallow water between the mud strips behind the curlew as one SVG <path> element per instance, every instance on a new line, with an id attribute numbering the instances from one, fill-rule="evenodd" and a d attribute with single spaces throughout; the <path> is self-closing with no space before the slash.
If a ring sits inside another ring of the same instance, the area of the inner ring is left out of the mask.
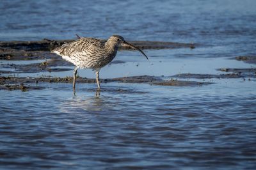
<path id="1" fill-rule="evenodd" d="M 221 55 L 211 54 L 214 49 L 212 47 L 198 47 L 195 50 L 191 49 L 164 49 L 164 50 L 145 50 L 150 56 L 150 62 L 147 61 L 139 52 L 136 51 L 118 51 L 116 58 L 113 61 L 121 60 L 124 63 L 113 63 L 107 65 L 100 70 L 100 77 L 115 78 L 115 77 L 129 77 L 135 75 L 154 75 L 154 76 L 171 76 L 179 73 L 206 73 L 206 74 L 220 74 L 216 69 L 218 68 L 250 68 L 255 65 L 244 63 L 230 59 L 234 54 L 227 53 Z M 205 52 L 205 54 L 204 54 Z M 227 57 L 229 56 L 229 57 Z M 20 64 L 41 63 L 45 60 L 31 60 L 22 61 Z M 1 63 L 2 62 L 2 63 Z M 19 64 L 19 61 L 0 61 L 0 70 L 7 70 L 1 68 L 1 64 Z M 70 68 L 72 70 L 65 72 L 36 72 L 26 73 L 20 72 L 9 73 L 2 75 L 15 75 L 19 77 L 66 77 L 73 75 L 74 66 L 57 66 L 58 68 Z M 159 69 L 161 68 L 161 69 Z M 116 72 L 118 70 L 118 72 Z M 14 71 L 14 70 L 12 70 Z M 29 70 L 28 70 L 29 71 Z M 78 75 L 81 77 L 95 78 L 95 72 L 92 69 L 78 69 Z"/>

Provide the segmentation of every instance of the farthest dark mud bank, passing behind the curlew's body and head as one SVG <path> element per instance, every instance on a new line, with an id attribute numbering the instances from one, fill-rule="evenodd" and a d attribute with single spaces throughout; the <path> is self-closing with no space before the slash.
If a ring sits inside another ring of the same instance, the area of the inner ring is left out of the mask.
<path id="1" fill-rule="evenodd" d="M 69 43 L 74 40 L 47 40 L 32 42 L 0 42 L 0 59 L 31 60 L 56 58 L 51 50 L 55 47 Z M 151 41 L 129 41 L 140 49 L 176 49 L 188 47 L 194 49 L 194 43 L 175 42 L 151 42 Z M 133 50 L 131 47 L 123 46 L 120 50 Z"/>

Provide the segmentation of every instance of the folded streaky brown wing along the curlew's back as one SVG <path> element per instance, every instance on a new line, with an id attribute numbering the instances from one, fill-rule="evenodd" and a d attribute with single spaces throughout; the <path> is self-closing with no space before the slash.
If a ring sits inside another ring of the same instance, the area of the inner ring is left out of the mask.
<path id="1" fill-rule="evenodd" d="M 95 38 L 80 38 L 71 43 L 65 43 L 60 47 L 52 50 L 52 52 L 63 55 L 63 56 L 72 56 L 77 52 L 86 52 L 93 49 L 102 49 L 106 40 L 99 40 Z"/>

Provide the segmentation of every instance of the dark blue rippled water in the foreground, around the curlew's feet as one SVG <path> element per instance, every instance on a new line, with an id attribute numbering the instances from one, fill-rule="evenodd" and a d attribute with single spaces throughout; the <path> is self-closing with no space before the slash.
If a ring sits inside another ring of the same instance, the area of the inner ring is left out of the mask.
<path id="1" fill-rule="evenodd" d="M 0 91 L 2 167 L 255 167 L 255 81 L 70 85 Z"/>

